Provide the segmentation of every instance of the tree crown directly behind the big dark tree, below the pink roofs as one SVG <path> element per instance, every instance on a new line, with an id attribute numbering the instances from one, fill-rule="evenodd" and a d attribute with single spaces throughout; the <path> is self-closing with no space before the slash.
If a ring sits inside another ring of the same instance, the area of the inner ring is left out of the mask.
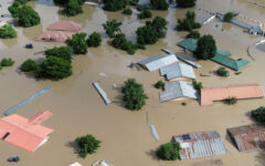
<path id="1" fill-rule="evenodd" d="M 46 55 L 46 58 L 56 56 L 66 60 L 70 63 L 72 61 L 71 49 L 68 46 L 54 46 L 53 49 L 45 50 L 44 54 Z"/>

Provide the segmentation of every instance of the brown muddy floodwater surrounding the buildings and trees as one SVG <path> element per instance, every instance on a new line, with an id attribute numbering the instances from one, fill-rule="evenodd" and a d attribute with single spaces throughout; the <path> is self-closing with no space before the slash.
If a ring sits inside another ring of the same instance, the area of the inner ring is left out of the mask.
<path id="1" fill-rule="evenodd" d="M 257 2 L 262 3 L 262 0 Z M 12 20 L 7 11 L 11 0 L 1 0 L 2 20 Z M 161 49 L 168 48 L 174 52 L 182 53 L 182 49 L 176 43 L 182 40 L 187 32 L 174 30 L 177 19 L 183 18 L 188 10 L 195 11 L 198 20 L 209 17 L 201 9 L 211 11 L 240 12 L 265 23 L 265 8 L 255 6 L 245 0 L 198 0 L 197 8 L 169 9 L 168 11 L 152 11 L 153 15 L 160 15 L 168 21 L 166 38 L 153 45 L 147 45 L 146 50 L 138 50 L 135 55 L 128 55 L 125 51 L 110 46 L 102 24 L 107 20 L 116 19 L 123 22 L 121 31 L 126 37 L 136 41 L 135 31 L 145 21 L 139 21 L 134 11 L 132 15 L 123 15 L 118 12 L 106 12 L 98 7 L 83 6 L 84 13 L 73 18 L 65 18 L 60 13 L 61 9 L 55 7 L 52 0 L 36 0 L 29 2 L 41 15 L 42 24 L 33 28 L 15 27 L 18 38 L 0 40 L 0 59 L 12 58 L 15 63 L 11 68 L 0 71 L 0 117 L 2 113 L 19 102 L 28 98 L 45 86 L 52 86 L 46 94 L 35 98 L 17 111 L 18 114 L 30 117 L 39 111 L 49 110 L 54 115 L 46 122 L 45 126 L 54 128 L 50 139 L 35 153 L 30 154 L 19 149 L 6 142 L 0 142 L 0 166 L 68 166 L 74 162 L 83 166 L 89 166 L 96 159 L 105 159 L 114 166 L 263 166 L 265 154 L 263 153 L 239 153 L 226 135 L 226 128 L 254 123 L 250 118 L 250 111 L 265 105 L 264 98 L 239 101 L 233 106 L 221 102 L 213 106 L 200 106 L 197 101 L 187 101 L 187 106 L 181 102 L 159 103 L 159 91 L 153 89 L 153 83 L 163 80 L 159 72 L 137 71 L 129 69 L 130 62 L 138 62 L 148 56 L 163 54 Z M 84 25 L 82 31 L 92 33 L 97 31 L 103 37 L 103 44 L 96 49 L 88 49 L 86 55 L 76 55 L 73 61 L 73 75 L 59 82 L 49 80 L 35 80 L 30 74 L 19 72 L 19 68 L 26 59 L 43 60 L 43 54 L 35 54 L 47 48 L 63 45 L 62 43 L 35 42 L 34 38 L 45 31 L 46 27 L 59 20 L 74 20 Z M 250 20 L 246 20 L 250 21 Z M 252 22 L 250 22 L 252 23 Z M 253 22 L 255 24 L 255 22 Z M 258 83 L 265 87 L 265 46 L 255 48 L 253 44 L 261 40 L 261 35 L 251 35 L 244 30 L 230 23 L 222 23 L 215 19 L 200 29 L 202 34 L 212 34 L 216 45 L 221 50 L 230 50 L 232 58 L 244 58 L 251 64 L 235 75 L 230 70 L 229 77 L 201 77 L 200 73 L 209 73 L 220 68 L 212 61 L 199 61 L 203 65 L 195 69 L 195 74 L 203 86 L 218 86 L 229 84 Z M 24 44 L 33 43 L 34 49 L 26 50 Z M 247 46 L 254 58 L 247 55 Z M 187 54 L 189 55 L 189 54 Z M 107 76 L 100 76 L 105 73 Z M 147 105 L 139 112 L 124 108 L 120 87 L 128 77 L 144 84 L 148 95 Z M 92 83 L 98 81 L 106 91 L 112 104 L 105 105 Z M 116 84 L 116 87 L 113 87 Z M 160 141 L 151 135 L 147 125 L 146 111 L 148 111 L 149 124 L 153 124 Z M 224 142 L 227 153 L 222 156 L 163 162 L 155 156 L 156 148 L 169 142 L 173 135 L 200 132 L 218 131 Z M 93 155 L 82 159 L 73 143 L 77 136 L 93 134 L 102 141 L 100 148 Z M 8 157 L 18 155 L 21 162 L 8 164 Z"/>

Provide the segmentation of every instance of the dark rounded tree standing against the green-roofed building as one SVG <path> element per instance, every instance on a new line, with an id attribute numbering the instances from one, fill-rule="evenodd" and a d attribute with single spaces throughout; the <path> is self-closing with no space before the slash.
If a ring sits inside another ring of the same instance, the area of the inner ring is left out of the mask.
<path id="1" fill-rule="evenodd" d="M 212 35 L 203 35 L 198 40 L 195 56 L 200 60 L 209 60 L 215 55 L 216 45 Z"/>

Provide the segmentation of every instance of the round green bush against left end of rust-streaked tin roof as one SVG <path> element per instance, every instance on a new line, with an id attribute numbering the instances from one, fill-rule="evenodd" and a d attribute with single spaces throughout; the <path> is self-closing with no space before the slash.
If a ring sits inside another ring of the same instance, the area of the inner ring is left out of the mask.
<path id="1" fill-rule="evenodd" d="M 177 143 L 167 143 L 161 145 L 157 151 L 157 156 L 163 160 L 176 160 L 180 158 L 181 147 Z"/>

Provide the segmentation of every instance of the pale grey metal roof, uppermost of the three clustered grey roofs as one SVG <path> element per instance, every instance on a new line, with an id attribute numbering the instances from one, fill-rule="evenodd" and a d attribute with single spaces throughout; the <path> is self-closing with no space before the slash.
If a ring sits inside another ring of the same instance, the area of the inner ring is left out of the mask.
<path id="1" fill-rule="evenodd" d="M 152 72 L 160 68 L 176 63 L 179 60 L 174 54 L 168 54 L 168 55 L 155 55 L 138 63 L 148 71 Z"/>

